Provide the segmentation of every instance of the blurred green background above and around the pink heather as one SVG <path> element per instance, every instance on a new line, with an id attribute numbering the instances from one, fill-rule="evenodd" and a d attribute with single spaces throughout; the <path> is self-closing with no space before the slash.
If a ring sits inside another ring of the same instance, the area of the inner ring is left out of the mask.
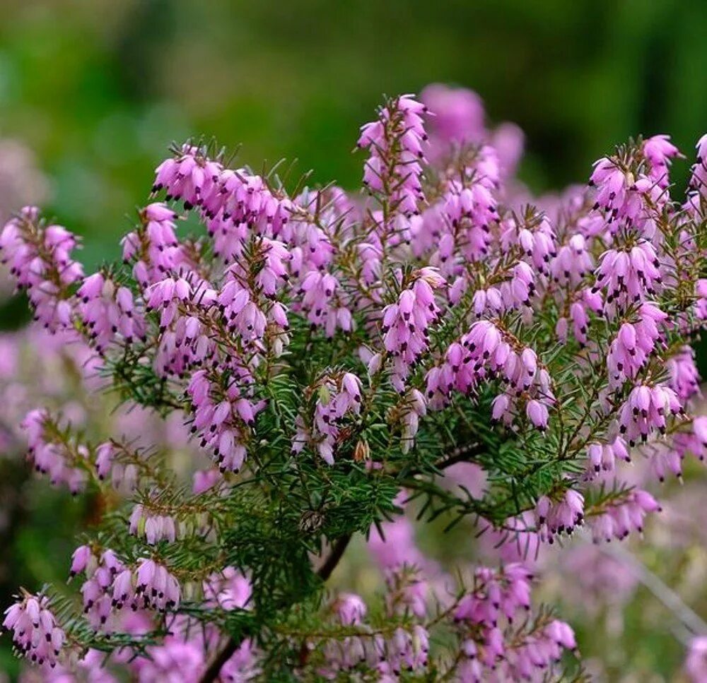
<path id="1" fill-rule="evenodd" d="M 0 0 L 0 16 L 0 141 L 23 145 L 38 174 L 18 177 L 18 197 L 81 234 L 89 266 L 117 258 L 172 141 L 213 136 L 243 163 L 297 160 L 350 187 L 356 131 L 382 94 L 434 81 L 477 90 L 492 121 L 520 125 L 520 177 L 537 192 L 585 181 L 629 136 L 670 133 L 691 156 L 707 130 L 699 0 Z M 21 311 L 2 304 L 0 328 Z M 0 547 L 3 605 L 18 580 L 56 578 L 90 516 L 90 501 L 30 490 L 42 501 Z M 597 648 L 629 653 L 609 658 L 616 679 L 672 679 L 682 647 L 645 628 L 650 610 L 661 618 L 649 595 L 635 602 L 621 645 L 609 633 Z"/>

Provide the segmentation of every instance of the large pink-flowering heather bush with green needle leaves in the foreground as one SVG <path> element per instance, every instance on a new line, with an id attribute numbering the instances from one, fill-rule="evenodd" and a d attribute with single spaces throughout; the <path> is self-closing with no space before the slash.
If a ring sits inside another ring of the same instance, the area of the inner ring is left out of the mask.
<path id="1" fill-rule="evenodd" d="M 21 589 L 5 613 L 46 677 L 583 677 L 528 558 L 641 533 L 660 504 L 625 463 L 703 456 L 707 138 L 682 203 L 667 136 L 536 202 L 520 131 L 440 86 L 388 99 L 357 146 L 359 193 L 175 146 L 97 273 L 36 208 L 4 227 L 37 322 L 212 463 L 189 482 L 169 447 L 25 415 L 34 468 L 106 501 L 67 559 L 80 597 Z M 406 509 L 469 524 L 494 562 L 440 568 Z M 385 576 L 368 600 L 327 588 L 358 536 Z"/>

